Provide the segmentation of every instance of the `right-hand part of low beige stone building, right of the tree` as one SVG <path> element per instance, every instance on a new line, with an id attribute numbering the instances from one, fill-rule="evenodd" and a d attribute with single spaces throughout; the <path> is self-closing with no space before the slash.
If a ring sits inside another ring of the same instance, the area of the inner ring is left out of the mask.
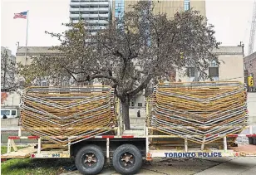
<path id="1" fill-rule="evenodd" d="M 239 80 L 244 83 L 244 55 L 242 46 L 220 46 L 213 51 L 220 61 L 217 66 L 210 64 L 207 75 L 214 80 Z M 177 71 L 176 80 L 191 82 L 194 80 L 194 67 L 187 67 Z"/>

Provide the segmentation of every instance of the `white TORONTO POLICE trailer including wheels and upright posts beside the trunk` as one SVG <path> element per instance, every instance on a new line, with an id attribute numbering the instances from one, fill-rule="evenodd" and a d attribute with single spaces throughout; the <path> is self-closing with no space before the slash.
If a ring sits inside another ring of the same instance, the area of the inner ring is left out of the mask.
<path id="1" fill-rule="evenodd" d="M 75 158 L 76 168 L 82 174 L 100 173 L 105 163 L 112 163 L 118 173 L 135 174 L 140 170 L 144 158 L 146 161 L 152 161 L 154 158 L 256 157 L 256 134 L 253 134 L 252 126 L 246 127 L 249 129 L 249 134 L 171 135 L 154 133 L 160 128 L 151 127 L 148 124 L 149 121 L 146 120 L 143 130 L 126 130 L 118 104 L 116 106 L 117 124 L 112 126 L 111 131 L 104 132 L 104 134 L 80 136 L 53 137 L 47 135 L 42 138 L 37 135 L 24 137 L 22 129 L 20 129 L 17 136 L 8 137 L 7 153 L 2 154 L 1 158 L 2 160 L 9 158 Z M 150 116 L 149 111 L 149 103 L 147 103 L 146 116 Z M 179 129 L 179 127 L 185 128 L 180 125 L 173 129 Z M 239 125 L 214 127 L 244 129 L 244 126 Z M 51 137 L 52 139 L 49 139 Z M 203 142 L 195 144 L 190 141 L 193 137 L 200 138 Z M 248 143 L 233 144 L 234 138 L 239 137 L 247 139 Z M 204 142 L 209 138 L 219 140 L 219 143 Z M 35 139 L 37 143 L 18 150 L 15 143 L 17 139 Z M 69 142 L 65 145 L 49 142 L 49 140 L 55 139 L 65 139 Z M 175 140 L 179 140 L 179 142 L 175 142 Z M 232 140 L 232 144 L 230 144 L 230 140 Z M 14 151 L 11 151 L 12 148 Z"/>

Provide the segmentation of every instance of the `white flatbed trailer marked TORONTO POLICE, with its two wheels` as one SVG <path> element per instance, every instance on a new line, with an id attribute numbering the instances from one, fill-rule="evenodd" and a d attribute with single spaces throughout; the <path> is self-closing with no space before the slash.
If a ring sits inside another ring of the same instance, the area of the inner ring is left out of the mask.
<path id="1" fill-rule="evenodd" d="M 113 163 L 116 171 L 122 174 L 137 173 L 140 169 L 142 159 L 152 161 L 154 158 L 209 158 L 209 157 L 256 157 L 256 134 L 252 134 L 252 127 L 249 127 L 250 134 L 226 134 L 214 135 L 224 140 L 223 147 L 201 148 L 190 147 L 189 137 L 195 135 L 150 135 L 150 127 L 144 130 L 117 129 L 113 135 L 83 136 L 84 140 L 74 144 L 60 147 L 54 143 L 43 143 L 38 136 L 9 136 L 7 142 L 7 153 L 1 155 L 2 160 L 10 158 L 75 158 L 76 168 L 84 174 L 97 174 L 101 172 L 105 163 Z M 205 135 L 210 137 L 212 135 Z M 245 137 L 253 139 L 251 144 L 234 145 L 228 147 L 227 138 Z M 173 145 L 171 148 L 151 148 L 150 139 L 184 139 L 184 145 Z M 15 140 L 36 139 L 34 146 L 17 149 Z M 255 141 L 254 141 L 255 139 Z M 255 143 L 254 143 L 255 142 Z M 11 151 L 13 148 L 14 151 Z M 112 161 L 111 161 L 112 159 Z"/>

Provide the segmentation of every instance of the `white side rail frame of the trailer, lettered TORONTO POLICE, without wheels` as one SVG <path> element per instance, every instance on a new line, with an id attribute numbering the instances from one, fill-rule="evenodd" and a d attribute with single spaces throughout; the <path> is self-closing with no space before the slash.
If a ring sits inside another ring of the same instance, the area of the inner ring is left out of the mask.
<path id="1" fill-rule="evenodd" d="M 151 160 L 155 157 L 160 158 L 200 158 L 200 157 L 238 157 L 238 156 L 256 156 L 256 146 L 254 145 L 248 145 L 253 146 L 253 149 L 255 148 L 255 152 L 253 153 L 246 153 L 244 151 L 234 151 L 233 149 L 228 149 L 227 145 L 227 138 L 231 137 L 256 137 L 256 134 L 206 134 L 204 135 L 204 138 L 207 137 L 215 137 L 215 138 L 223 138 L 224 149 L 205 149 L 204 143 L 202 143 L 201 148 L 189 148 L 188 139 L 191 137 L 202 137 L 202 135 L 149 135 L 149 129 L 150 127 L 145 127 L 145 131 L 142 132 L 142 134 L 122 134 L 122 135 L 96 135 L 96 136 L 82 136 L 83 139 L 106 139 L 106 157 L 110 158 L 110 147 L 111 147 L 111 139 L 145 139 L 145 153 L 146 153 L 146 159 Z M 252 129 L 249 129 L 250 131 Z M 26 157 L 30 158 L 70 158 L 71 157 L 71 143 L 67 145 L 67 150 L 54 150 L 54 151 L 44 151 L 42 148 L 42 139 L 38 136 L 21 136 L 21 133 L 19 133 L 20 136 L 9 136 L 8 142 L 7 142 L 7 154 L 2 155 L 5 158 L 11 158 L 13 155 L 13 152 L 11 152 L 11 148 L 14 149 L 14 152 L 18 152 L 17 146 L 14 142 L 15 139 L 37 139 L 37 148 L 31 149 L 31 152 L 26 154 Z M 76 136 L 71 136 L 72 138 L 76 138 Z M 81 137 L 81 136 L 79 136 Z M 184 139 L 184 149 L 168 149 L 168 150 L 153 150 L 150 149 L 150 139 L 153 138 L 180 138 Z M 22 154 L 22 153 L 21 153 Z M 9 157 L 8 157 L 9 155 Z M 23 155 L 23 154 L 22 154 Z M 14 158 L 14 157 L 13 157 Z M 25 157 L 24 157 L 25 158 Z"/>

